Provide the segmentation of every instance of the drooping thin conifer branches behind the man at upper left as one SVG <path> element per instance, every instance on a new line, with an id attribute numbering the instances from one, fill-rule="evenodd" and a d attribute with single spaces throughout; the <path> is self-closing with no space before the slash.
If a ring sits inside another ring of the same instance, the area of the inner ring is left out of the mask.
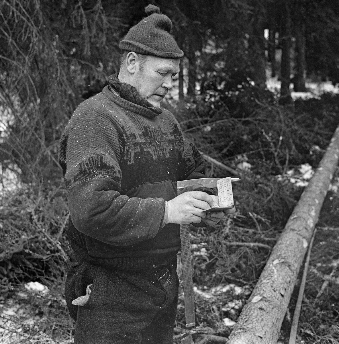
<path id="1" fill-rule="evenodd" d="M 52 179 L 51 170 L 60 178 L 63 128 L 79 94 L 118 66 L 123 26 L 101 0 L 90 11 L 79 1 L 3 0 L 0 18 L 2 170 L 33 183 Z"/>

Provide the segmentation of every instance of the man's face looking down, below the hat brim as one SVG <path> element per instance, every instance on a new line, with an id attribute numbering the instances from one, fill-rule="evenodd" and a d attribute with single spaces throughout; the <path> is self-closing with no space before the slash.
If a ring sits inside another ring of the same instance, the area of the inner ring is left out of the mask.
<path id="1" fill-rule="evenodd" d="M 160 107 L 169 89 L 172 78 L 179 73 L 180 59 L 147 56 L 144 65 L 134 74 L 134 87 L 153 106 Z"/>

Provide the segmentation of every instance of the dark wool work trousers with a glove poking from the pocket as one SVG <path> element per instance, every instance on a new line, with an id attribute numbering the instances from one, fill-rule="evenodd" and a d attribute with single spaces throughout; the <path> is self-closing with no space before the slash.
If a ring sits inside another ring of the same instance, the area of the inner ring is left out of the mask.
<path id="1" fill-rule="evenodd" d="M 72 301 L 86 295 L 87 303 Z M 126 272 L 83 259 L 71 262 L 65 284 L 76 321 L 75 344 L 172 344 L 178 303 L 176 258 L 170 264 Z"/>

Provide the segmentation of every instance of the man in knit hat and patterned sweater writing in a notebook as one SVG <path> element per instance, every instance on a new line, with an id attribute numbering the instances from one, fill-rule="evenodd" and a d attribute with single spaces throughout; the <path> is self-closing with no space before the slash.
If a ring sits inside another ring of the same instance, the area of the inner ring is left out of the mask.
<path id="1" fill-rule="evenodd" d="M 183 52 L 160 9 L 120 42 L 118 75 L 75 110 L 60 143 L 72 254 L 65 295 L 75 344 L 172 343 L 178 300 L 179 224 L 217 223 L 216 196 L 177 196 L 203 178 L 197 149 L 160 108 Z M 232 211 L 234 212 L 234 209 Z"/>

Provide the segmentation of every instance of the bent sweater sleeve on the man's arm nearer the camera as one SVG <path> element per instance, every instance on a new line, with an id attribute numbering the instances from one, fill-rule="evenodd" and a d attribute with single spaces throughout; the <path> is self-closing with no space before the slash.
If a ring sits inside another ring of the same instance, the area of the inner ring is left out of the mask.
<path id="1" fill-rule="evenodd" d="M 98 117 L 95 123 L 90 118 L 74 115 L 61 141 L 66 146 L 60 150 L 66 157 L 60 160 L 66 162 L 64 178 L 75 228 L 114 246 L 153 238 L 161 226 L 164 199 L 120 194 L 118 132 L 109 118 Z"/>

